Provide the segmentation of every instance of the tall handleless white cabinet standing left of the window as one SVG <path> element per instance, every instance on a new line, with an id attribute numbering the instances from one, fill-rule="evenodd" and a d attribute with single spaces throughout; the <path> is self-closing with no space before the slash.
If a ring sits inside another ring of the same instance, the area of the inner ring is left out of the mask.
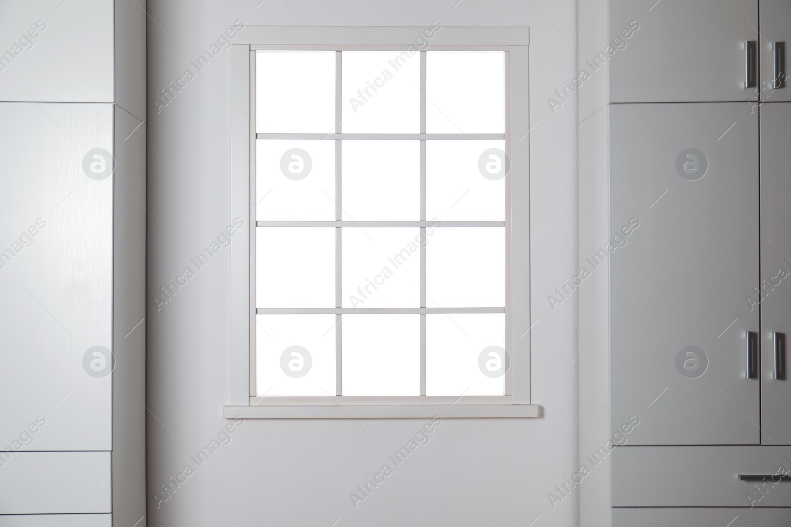
<path id="1" fill-rule="evenodd" d="M 136 3 L 0 8 L 0 527 L 137 525 L 146 514 Z"/>

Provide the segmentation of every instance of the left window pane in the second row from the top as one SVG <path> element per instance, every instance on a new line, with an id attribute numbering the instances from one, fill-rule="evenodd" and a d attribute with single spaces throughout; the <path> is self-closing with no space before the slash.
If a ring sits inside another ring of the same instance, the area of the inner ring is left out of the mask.
<path id="1" fill-rule="evenodd" d="M 335 220 L 335 141 L 255 141 L 257 220 Z"/>

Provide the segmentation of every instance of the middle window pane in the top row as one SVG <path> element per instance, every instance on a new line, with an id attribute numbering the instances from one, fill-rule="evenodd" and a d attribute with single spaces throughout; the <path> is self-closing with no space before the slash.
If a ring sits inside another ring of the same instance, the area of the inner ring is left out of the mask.
<path id="1" fill-rule="evenodd" d="M 420 131 L 418 51 L 343 51 L 345 134 Z"/>

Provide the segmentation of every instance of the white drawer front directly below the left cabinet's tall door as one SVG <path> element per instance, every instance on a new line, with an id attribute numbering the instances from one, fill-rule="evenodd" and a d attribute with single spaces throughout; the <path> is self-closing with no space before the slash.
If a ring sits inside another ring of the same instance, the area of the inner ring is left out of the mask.
<path id="1" fill-rule="evenodd" d="M 0 514 L 112 512 L 110 455 L 110 452 L 13 454 L 0 467 Z"/>

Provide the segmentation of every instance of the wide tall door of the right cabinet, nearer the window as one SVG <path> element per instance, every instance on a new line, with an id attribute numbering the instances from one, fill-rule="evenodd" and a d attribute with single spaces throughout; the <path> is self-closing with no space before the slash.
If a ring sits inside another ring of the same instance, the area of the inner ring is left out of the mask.
<path id="1" fill-rule="evenodd" d="M 610 134 L 611 239 L 588 262 L 611 262 L 612 428 L 638 416 L 630 445 L 759 443 L 744 302 L 759 283 L 758 111 L 612 104 Z"/>

